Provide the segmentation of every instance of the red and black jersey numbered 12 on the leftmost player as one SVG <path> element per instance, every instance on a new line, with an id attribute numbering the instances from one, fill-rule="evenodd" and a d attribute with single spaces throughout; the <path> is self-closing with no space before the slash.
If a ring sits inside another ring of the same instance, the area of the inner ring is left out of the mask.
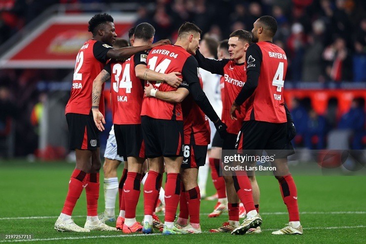
<path id="1" fill-rule="evenodd" d="M 112 47 L 107 44 L 89 40 L 76 56 L 71 96 L 66 105 L 65 114 L 89 114 L 92 109 L 92 86 L 95 77 L 107 62 L 107 52 Z M 104 85 L 102 87 L 102 91 Z M 100 96 L 99 111 L 104 114 L 104 96 Z"/>

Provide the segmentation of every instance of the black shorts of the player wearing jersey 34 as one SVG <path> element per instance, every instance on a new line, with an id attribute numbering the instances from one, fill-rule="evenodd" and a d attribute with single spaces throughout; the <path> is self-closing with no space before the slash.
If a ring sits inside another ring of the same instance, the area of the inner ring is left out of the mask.
<path id="1" fill-rule="evenodd" d="M 127 157 L 145 157 L 145 145 L 142 140 L 141 124 L 114 125 L 117 142 L 117 154 L 125 161 Z"/>

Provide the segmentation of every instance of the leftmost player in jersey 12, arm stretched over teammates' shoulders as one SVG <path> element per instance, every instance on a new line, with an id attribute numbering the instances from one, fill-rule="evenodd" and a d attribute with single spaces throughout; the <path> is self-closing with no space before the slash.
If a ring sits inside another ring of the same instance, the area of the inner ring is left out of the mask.
<path id="1" fill-rule="evenodd" d="M 54 224 L 57 231 L 90 232 L 91 230 L 111 231 L 97 216 L 99 198 L 99 135 L 92 119 L 92 83 L 110 58 L 128 58 L 138 51 L 151 49 L 169 40 L 143 47 L 112 48 L 117 37 L 113 18 L 109 14 L 95 14 L 89 21 L 88 31 L 92 39 L 85 42 L 76 57 L 71 96 L 65 114 L 69 127 L 70 149 L 76 153 L 76 167 L 73 171 L 66 200 L 60 216 Z M 98 104 L 104 114 L 104 97 Z M 84 228 L 71 219 L 72 211 L 83 189 L 87 193 L 87 221 Z"/>

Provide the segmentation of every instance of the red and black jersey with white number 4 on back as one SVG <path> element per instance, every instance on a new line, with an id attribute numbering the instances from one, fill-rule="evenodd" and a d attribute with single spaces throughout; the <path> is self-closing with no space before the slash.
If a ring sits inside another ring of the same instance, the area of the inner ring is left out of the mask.
<path id="1" fill-rule="evenodd" d="M 246 52 L 248 80 L 237 104 L 245 102 L 245 121 L 271 123 L 287 121 L 283 99 L 287 57 L 283 49 L 271 42 L 252 44 Z"/>

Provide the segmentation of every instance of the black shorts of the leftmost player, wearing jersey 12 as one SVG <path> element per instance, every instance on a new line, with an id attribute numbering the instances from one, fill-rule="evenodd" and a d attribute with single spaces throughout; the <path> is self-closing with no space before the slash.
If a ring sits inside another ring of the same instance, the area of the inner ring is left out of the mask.
<path id="1" fill-rule="evenodd" d="M 90 114 L 67 113 L 69 127 L 69 148 L 96 150 L 99 147 L 99 130 Z"/>

